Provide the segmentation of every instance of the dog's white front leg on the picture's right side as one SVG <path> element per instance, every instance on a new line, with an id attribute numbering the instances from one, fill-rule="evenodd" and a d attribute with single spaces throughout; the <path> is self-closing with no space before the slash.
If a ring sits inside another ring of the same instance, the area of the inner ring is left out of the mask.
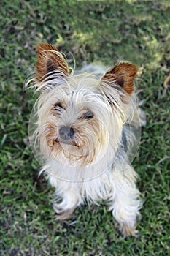
<path id="1" fill-rule="evenodd" d="M 120 224 L 123 236 L 135 236 L 136 220 L 139 219 L 139 209 L 142 200 L 139 200 L 140 192 L 136 188 L 136 173 L 133 167 L 126 170 L 113 170 L 113 197 L 109 210 Z"/>

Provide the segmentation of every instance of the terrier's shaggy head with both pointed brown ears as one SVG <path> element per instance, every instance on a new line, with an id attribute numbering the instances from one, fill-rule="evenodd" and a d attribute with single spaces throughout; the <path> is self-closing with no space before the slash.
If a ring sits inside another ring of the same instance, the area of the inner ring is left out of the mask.
<path id="1" fill-rule="evenodd" d="M 42 43 L 37 53 L 34 135 L 42 154 L 74 166 L 91 165 L 106 152 L 112 157 L 133 105 L 136 66 L 122 62 L 101 78 L 72 75 L 55 46 Z"/>

